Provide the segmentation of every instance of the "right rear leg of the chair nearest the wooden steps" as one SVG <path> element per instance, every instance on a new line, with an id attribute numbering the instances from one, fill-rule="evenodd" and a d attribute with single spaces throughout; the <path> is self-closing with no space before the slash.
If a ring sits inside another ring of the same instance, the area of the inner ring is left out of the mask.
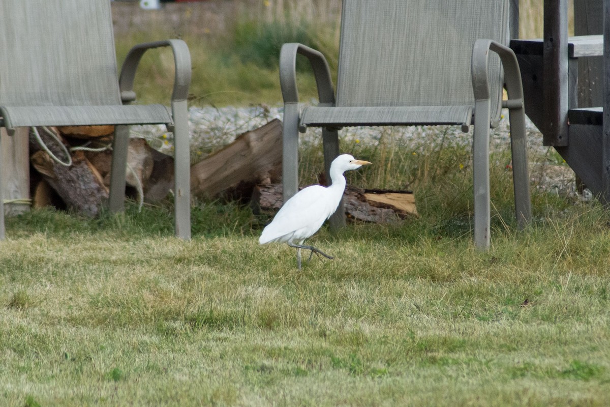
<path id="1" fill-rule="evenodd" d="M 531 222 L 532 209 L 529 195 L 528 142 L 525 132 L 525 112 L 509 109 L 511 124 L 512 182 L 515 193 L 515 217 L 519 229 Z"/>

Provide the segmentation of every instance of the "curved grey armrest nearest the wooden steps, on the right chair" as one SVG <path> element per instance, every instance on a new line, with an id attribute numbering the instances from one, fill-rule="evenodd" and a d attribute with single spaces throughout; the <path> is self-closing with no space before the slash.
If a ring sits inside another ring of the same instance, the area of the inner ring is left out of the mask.
<path id="1" fill-rule="evenodd" d="M 472 48 L 472 87 L 475 92 L 475 100 L 489 99 L 489 79 L 487 77 L 489 51 L 500 56 L 504 68 L 504 82 L 506 93 L 508 93 L 508 101 L 504 103 L 504 107 L 523 109 L 523 85 L 515 52 L 493 40 L 476 40 Z"/>

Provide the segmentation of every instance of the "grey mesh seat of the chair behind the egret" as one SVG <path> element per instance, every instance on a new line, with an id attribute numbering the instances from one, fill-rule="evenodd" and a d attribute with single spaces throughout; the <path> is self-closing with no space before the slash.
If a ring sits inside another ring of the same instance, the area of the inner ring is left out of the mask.
<path id="1" fill-rule="evenodd" d="M 470 125 L 472 106 L 305 107 L 301 126 Z"/>

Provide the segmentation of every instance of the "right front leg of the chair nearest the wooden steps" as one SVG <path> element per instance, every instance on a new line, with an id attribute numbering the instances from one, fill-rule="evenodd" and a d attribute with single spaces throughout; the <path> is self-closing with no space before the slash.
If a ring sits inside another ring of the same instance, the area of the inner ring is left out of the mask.
<path id="1" fill-rule="evenodd" d="M 489 247 L 489 99 L 475 103 L 473 135 L 473 184 L 475 193 L 475 247 Z"/>

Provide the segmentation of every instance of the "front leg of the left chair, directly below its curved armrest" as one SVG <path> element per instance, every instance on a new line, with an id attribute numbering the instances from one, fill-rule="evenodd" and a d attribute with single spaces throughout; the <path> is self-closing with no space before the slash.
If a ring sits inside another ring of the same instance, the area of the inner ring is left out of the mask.
<path id="1" fill-rule="evenodd" d="M 174 216 L 176 236 L 191 238 L 190 137 L 187 101 L 172 101 L 174 118 Z"/>

